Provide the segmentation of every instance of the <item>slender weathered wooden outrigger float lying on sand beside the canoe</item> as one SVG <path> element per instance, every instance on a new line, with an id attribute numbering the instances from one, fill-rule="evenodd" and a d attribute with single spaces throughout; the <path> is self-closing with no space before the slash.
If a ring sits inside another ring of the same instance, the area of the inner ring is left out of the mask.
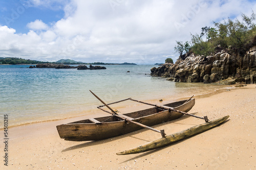
<path id="1" fill-rule="evenodd" d="M 139 147 L 119 152 L 119 153 L 117 153 L 117 155 L 138 154 L 138 153 L 158 149 L 158 148 L 161 148 L 161 147 L 165 147 L 168 144 L 172 144 L 174 142 L 180 141 L 180 140 L 188 138 L 190 136 L 193 136 L 193 135 L 202 133 L 204 131 L 207 131 L 208 129 L 214 128 L 214 127 L 220 125 L 221 123 L 225 122 L 225 120 L 228 117 L 229 116 L 224 116 L 224 117 L 221 117 L 219 119 L 212 120 L 210 122 L 191 127 L 191 128 L 186 129 L 184 131 L 174 133 L 174 134 L 171 134 L 171 135 L 167 135 L 167 136 L 162 137 L 160 139 L 142 144 Z"/>

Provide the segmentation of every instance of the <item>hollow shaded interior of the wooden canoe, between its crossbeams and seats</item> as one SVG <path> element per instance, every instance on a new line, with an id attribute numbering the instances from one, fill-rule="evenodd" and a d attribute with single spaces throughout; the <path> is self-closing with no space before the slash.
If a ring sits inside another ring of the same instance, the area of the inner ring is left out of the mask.
<path id="1" fill-rule="evenodd" d="M 186 102 L 186 100 L 178 101 L 178 102 L 174 102 L 174 103 L 165 104 L 164 106 L 175 108 L 175 107 L 178 107 L 178 106 L 184 104 L 185 102 Z M 124 115 L 132 117 L 132 118 L 140 118 L 140 117 L 152 115 L 155 113 L 159 113 L 162 111 L 164 111 L 164 109 L 159 109 L 159 108 L 153 107 L 153 108 L 148 108 L 145 110 L 135 111 L 135 112 L 131 112 L 131 113 L 125 113 Z M 116 118 L 114 116 L 97 117 L 94 119 L 98 120 L 99 122 L 104 122 L 104 123 L 120 121 L 118 118 Z M 89 119 L 84 119 L 84 120 L 79 120 L 79 121 L 72 122 L 69 124 L 93 124 L 93 123 Z"/>

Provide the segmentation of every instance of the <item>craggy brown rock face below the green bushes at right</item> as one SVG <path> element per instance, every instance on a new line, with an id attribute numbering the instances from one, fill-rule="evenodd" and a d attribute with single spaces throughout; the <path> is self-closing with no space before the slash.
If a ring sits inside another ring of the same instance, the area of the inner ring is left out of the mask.
<path id="1" fill-rule="evenodd" d="M 229 54 L 224 51 L 212 56 L 190 54 L 175 64 L 164 64 L 151 68 L 155 77 L 173 78 L 175 82 L 218 82 L 229 77 L 256 82 L 256 51 L 249 51 L 245 56 Z"/>

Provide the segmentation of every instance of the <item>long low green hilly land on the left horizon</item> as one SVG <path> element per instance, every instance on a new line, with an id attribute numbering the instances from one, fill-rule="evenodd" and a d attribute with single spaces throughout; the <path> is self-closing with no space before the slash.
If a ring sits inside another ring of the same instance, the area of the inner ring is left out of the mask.
<path id="1" fill-rule="evenodd" d="M 74 61 L 71 59 L 61 59 L 56 62 L 45 62 L 45 61 L 36 61 L 30 59 L 22 59 L 17 57 L 0 57 L 0 64 L 11 64 L 11 65 L 18 65 L 18 64 L 43 64 L 43 63 L 53 63 L 53 64 L 90 64 L 90 65 L 137 65 L 135 63 L 102 63 L 102 62 L 94 62 L 94 63 L 84 63 L 80 61 Z"/>

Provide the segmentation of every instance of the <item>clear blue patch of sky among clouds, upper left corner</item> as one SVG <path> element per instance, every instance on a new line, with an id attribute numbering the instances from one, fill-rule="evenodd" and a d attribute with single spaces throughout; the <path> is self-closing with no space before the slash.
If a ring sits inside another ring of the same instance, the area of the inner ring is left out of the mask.
<path id="1" fill-rule="evenodd" d="M 37 6 L 28 0 L 2 0 L 0 7 L 0 24 L 14 28 L 16 33 L 28 33 L 27 23 L 36 19 L 51 25 L 65 16 L 62 4 L 58 3 L 53 3 L 49 8 L 43 5 Z"/>

